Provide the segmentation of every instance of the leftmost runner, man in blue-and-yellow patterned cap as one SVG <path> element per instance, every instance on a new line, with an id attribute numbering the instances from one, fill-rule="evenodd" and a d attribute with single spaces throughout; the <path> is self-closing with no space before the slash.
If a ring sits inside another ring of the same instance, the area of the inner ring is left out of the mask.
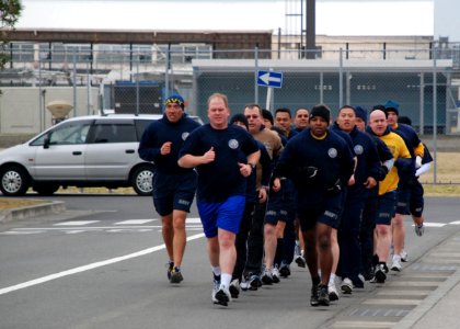
<path id="1" fill-rule="evenodd" d="M 179 150 L 197 122 L 185 112 L 184 99 L 179 94 L 164 101 L 164 115 L 147 126 L 139 144 L 139 157 L 156 164 L 153 205 L 161 216 L 162 235 L 170 258 L 168 279 L 183 280 L 182 259 L 186 245 L 185 218 L 195 196 L 197 177 L 193 169 L 177 166 Z"/>

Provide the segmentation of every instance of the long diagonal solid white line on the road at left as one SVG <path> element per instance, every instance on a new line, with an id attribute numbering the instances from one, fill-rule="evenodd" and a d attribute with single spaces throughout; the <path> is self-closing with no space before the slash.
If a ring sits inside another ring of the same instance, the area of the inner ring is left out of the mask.
<path id="1" fill-rule="evenodd" d="M 203 238 L 204 236 L 205 236 L 205 234 L 194 235 L 194 236 L 188 237 L 187 241 L 199 239 L 199 238 Z M 97 268 L 101 268 L 101 266 L 114 264 L 114 263 L 122 262 L 122 261 L 125 261 L 125 260 L 128 260 L 128 259 L 131 259 L 131 258 L 146 256 L 146 254 L 162 250 L 164 248 L 165 248 L 165 246 L 163 243 L 163 245 L 156 246 L 156 247 L 148 248 L 148 249 L 143 249 L 143 250 L 140 250 L 140 251 L 137 251 L 137 252 L 133 252 L 133 253 L 129 253 L 129 254 L 115 257 L 115 258 L 107 259 L 107 260 L 104 260 L 104 261 L 99 261 L 99 262 L 91 263 L 91 264 L 88 264 L 88 265 L 73 268 L 73 269 L 70 269 L 70 270 L 66 270 L 66 271 L 62 271 L 62 272 L 49 274 L 49 275 L 46 275 L 46 276 L 42 276 L 42 277 L 38 277 L 38 279 L 26 281 L 26 282 L 19 283 L 19 284 L 15 284 L 15 285 L 7 286 L 4 288 L 0 288 L 0 295 L 4 295 L 4 294 L 8 294 L 8 293 L 11 293 L 11 292 L 14 292 L 14 291 L 23 290 L 23 288 L 26 288 L 26 287 L 30 287 L 30 286 L 38 285 L 38 284 L 42 284 L 42 283 L 45 283 L 45 282 L 48 282 L 48 281 L 53 281 L 53 280 L 57 280 L 57 279 L 60 279 L 60 277 L 64 277 L 64 276 L 73 275 L 73 274 L 77 274 L 77 273 L 94 270 L 94 269 L 97 269 Z"/>

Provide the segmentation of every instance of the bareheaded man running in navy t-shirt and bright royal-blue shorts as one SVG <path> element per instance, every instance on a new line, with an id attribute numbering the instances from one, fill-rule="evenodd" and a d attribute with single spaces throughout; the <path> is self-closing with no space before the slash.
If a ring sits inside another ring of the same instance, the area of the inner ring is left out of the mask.
<path id="1" fill-rule="evenodd" d="M 261 151 L 244 129 L 228 124 L 230 109 L 225 94 L 208 99 L 209 124 L 194 131 L 184 143 L 179 166 L 198 171 L 197 207 L 207 237 L 214 273 L 212 302 L 227 306 L 237 260 L 235 236 L 243 216 L 246 177 Z"/>

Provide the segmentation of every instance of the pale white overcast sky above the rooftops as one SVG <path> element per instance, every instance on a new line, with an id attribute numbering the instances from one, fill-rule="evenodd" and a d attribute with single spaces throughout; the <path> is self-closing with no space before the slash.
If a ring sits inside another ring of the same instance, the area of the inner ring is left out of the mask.
<path id="1" fill-rule="evenodd" d="M 304 0 L 302 0 L 304 3 Z M 22 0 L 16 27 L 300 31 L 294 0 Z M 297 4 L 296 4 L 297 3 Z M 317 34 L 433 35 L 460 42 L 460 0 L 317 0 Z"/>

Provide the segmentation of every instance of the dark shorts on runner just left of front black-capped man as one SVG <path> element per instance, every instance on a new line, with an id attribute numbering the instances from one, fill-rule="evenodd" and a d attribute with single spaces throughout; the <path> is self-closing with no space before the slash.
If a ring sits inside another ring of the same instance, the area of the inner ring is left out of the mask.
<path id="1" fill-rule="evenodd" d="M 278 220 L 294 223 L 294 219 L 296 219 L 296 189 L 290 180 L 283 180 L 281 190 L 269 193 L 264 223 L 276 225 Z"/>

